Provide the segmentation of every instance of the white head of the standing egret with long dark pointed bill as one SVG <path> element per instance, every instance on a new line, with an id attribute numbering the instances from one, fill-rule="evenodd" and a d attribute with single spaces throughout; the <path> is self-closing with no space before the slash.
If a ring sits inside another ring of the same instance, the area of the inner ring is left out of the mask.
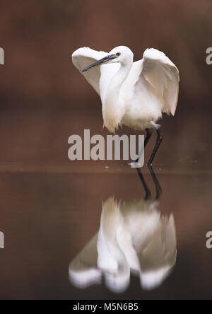
<path id="1" fill-rule="evenodd" d="M 98 60 L 93 64 L 90 64 L 89 66 L 86 66 L 86 68 L 83 69 L 83 72 L 86 72 L 89 69 L 95 66 L 100 66 L 102 64 L 110 64 L 115 62 L 119 62 L 121 64 L 132 64 L 133 59 L 134 54 L 128 47 L 126 46 L 115 47 L 110 51 L 110 53 L 106 57 Z"/>

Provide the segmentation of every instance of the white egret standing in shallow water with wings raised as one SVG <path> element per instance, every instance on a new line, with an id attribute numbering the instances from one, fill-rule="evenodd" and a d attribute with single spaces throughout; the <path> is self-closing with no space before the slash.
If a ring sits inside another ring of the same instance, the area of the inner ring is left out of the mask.
<path id="1" fill-rule="evenodd" d="M 73 52 L 72 61 L 100 95 L 104 126 L 110 132 L 122 124 L 146 130 L 146 146 L 156 130 L 157 141 L 148 161 L 151 165 L 163 140 L 156 122 L 163 112 L 175 115 L 177 107 L 179 71 L 175 64 L 153 48 L 134 62 L 133 52 L 125 46 L 109 53 L 79 48 Z"/>

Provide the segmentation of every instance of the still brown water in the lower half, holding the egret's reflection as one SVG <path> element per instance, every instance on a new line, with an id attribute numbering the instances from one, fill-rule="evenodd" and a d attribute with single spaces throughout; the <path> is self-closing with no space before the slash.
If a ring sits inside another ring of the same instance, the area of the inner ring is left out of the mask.
<path id="1" fill-rule="evenodd" d="M 141 172 L 1 169 L 0 298 L 211 298 L 212 173 Z"/>

